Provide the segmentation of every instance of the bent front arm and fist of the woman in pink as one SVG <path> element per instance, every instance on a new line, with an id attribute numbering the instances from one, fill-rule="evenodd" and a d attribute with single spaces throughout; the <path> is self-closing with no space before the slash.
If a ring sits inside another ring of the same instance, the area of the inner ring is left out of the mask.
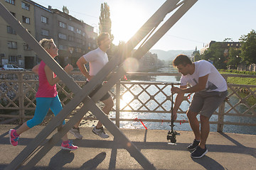
<path id="1" fill-rule="evenodd" d="M 70 73 L 73 70 L 73 66 L 68 64 L 64 69 L 65 69 L 65 72 Z M 45 72 L 46 72 L 46 79 L 50 84 L 50 86 L 53 86 L 54 84 L 58 83 L 58 81 L 60 81 L 60 78 L 54 77 L 53 71 L 47 65 L 45 66 Z"/>

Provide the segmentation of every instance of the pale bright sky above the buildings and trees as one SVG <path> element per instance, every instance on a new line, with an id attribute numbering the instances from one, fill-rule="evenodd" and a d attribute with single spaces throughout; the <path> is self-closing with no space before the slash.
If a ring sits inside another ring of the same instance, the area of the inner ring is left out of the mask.
<path id="1" fill-rule="evenodd" d="M 100 6 L 110 6 L 113 43 L 127 42 L 139 28 L 164 4 L 164 0 L 33 0 L 42 6 L 62 11 L 84 21 L 98 31 Z M 232 38 L 238 41 L 256 29 L 255 0 L 198 0 L 187 13 L 154 45 L 154 50 L 200 50 L 211 40 Z M 171 13 L 172 14 L 172 13 Z M 171 16 L 167 15 L 167 17 Z"/>

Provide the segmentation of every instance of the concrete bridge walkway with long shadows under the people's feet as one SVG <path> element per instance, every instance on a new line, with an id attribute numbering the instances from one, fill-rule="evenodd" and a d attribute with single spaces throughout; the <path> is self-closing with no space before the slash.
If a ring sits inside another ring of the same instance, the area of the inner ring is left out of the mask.
<path id="1" fill-rule="evenodd" d="M 9 143 L 8 131 L 15 125 L 0 125 L 0 169 L 4 169 L 44 127 L 36 126 L 21 135 L 18 146 Z M 110 135 L 102 140 L 92 128 L 81 128 L 82 140 L 68 136 L 78 149 L 60 149 L 58 142 L 34 169 L 142 169 Z M 256 135 L 220 134 L 210 132 L 208 153 L 201 159 L 191 159 L 186 147 L 193 141 L 193 132 L 181 131 L 177 145 L 167 145 L 167 130 L 127 130 L 125 135 L 134 142 L 156 169 L 256 169 Z M 26 164 L 26 163 L 25 163 Z"/>

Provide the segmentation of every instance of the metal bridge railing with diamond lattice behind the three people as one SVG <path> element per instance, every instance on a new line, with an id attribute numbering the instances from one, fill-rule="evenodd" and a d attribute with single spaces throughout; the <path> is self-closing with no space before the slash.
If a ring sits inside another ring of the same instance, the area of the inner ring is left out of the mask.
<path id="1" fill-rule="evenodd" d="M 82 86 L 85 84 L 85 77 L 80 72 L 72 72 L 70 75 L 75 79 L 76 83 Z M 127 73 L 127 77 L 156 77 L 166 76 L 175 77 L 176 82 L 180 78 L 177 73 Z M 250 75 L 223 74 L 227 80 L 232 77 L 241 77 L 241 79 L 256 78 Z M 171 113 L 171 84 L 175 82 L 159 82 L 159 81 L 119 81 L 110 90 L 114 98 L 115 113 L 114 118 L 116 125 L 119 127 L 122 121 L 136 121 L 134 118 L 120 118 L 120 113 Z M 18 119 L 19 123 L 23 123 L 29 118 L 33 118 L 36 109 L 36 91 L 38 89 L 38 76 L 33 72 L 8 72 L 0 71 L 0 118 Z M 58 95 L 60 101 L 65 106 L 74 94 L 61 81 L 57 84 Z M 228 98 L 215 111 L 214 115 L 218 115 L 218 120 L 210 121 L 210 124 L 218 125 L 218 132 L 223 131 L 224 125 L 246 125 L 255 126 L 256 123 L 240 122 L 225 120 L 226 116 L 238 116 L 242 118 L 256 118 L 256 86 L 243 84 L 228 84 Z M 174 95 L 175 98 L 175 95 Z M 183 107 L 179 108 L 179 114 L 185 114 L 188 105 L 191 103 L 191 94 L 186 94 L 183 98 Z M 82 103 L 81 105 L 82 106 Z M 100 103 L 99 103 L 99 106 Z M 80 107 L 75 108 L 70 116 L 76 113 Z M 183 109 L 182 109 L 183 108 Z M 184 109 L 186 108 L 186 109 Z M 91 115 L 91 114 L 90 114 Z M 48 118 L 51 118 L 48 115 Z M 69 117 L 70 118 L 70 117 Z M 11 119 L 11 120 L 12 120 Z M 68 118 L 67 118 L 68 119 Z M 85 120 L 95 120 L 91 116 L 85 116 Z M 144 118 L 143 122 L 159 122 L 169 123 L 170 120 L 157 118 Z M 176 120 L 181 122 L 181 120 Z M 182 120 L 182 123 L 188 123 L 188 120 Z"/>

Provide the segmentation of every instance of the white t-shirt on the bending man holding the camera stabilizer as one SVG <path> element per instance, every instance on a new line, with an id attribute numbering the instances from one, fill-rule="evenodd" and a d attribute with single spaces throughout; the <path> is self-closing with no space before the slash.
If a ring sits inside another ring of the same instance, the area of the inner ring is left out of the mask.
<path id="1" fill-rule="evenodd" d="M 200 60 L 198 62 L 194 62 L 195 64 L 195 72 L 193 74 L 187 74 L 186 76 L 181 76 L 181 86 L 186 86 L 190 84 L 191 86 L 195 86 L 198 84 L 199 77 L 204 77 L 207 74 L 208 80 L 206 83 L 206 89 L 203 91 L 226 91 L 228 90 L 227 83 L 225 79 L 221 76 L 218 70 L 206 60 Z"/>

